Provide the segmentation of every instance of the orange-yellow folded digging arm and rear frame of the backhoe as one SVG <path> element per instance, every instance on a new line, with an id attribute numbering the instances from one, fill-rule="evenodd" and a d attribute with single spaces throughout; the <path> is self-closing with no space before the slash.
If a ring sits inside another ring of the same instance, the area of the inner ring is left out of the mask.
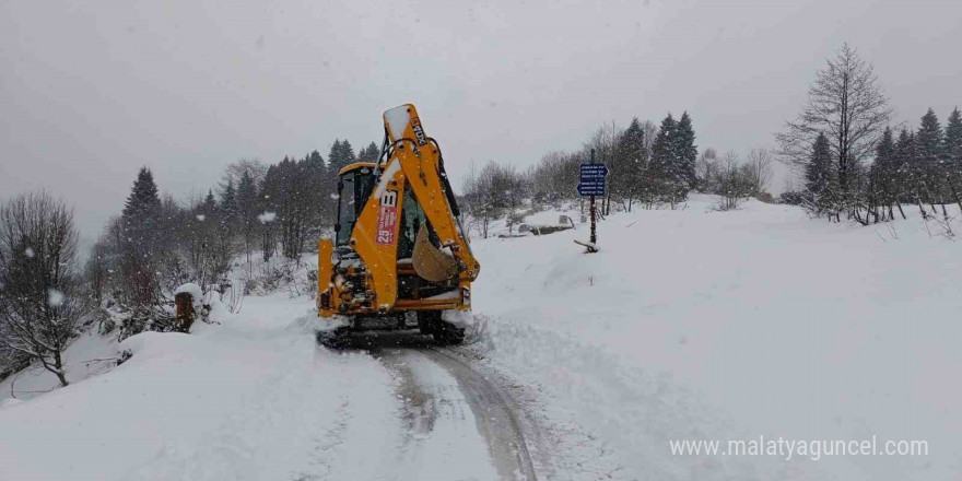
<path id="1" fill-rule="evenodd" d="M 450 301 L 398 300 L 398 243 L 404 196 L 413 195 L 439 244 L 431 242 L 422 225 L 414 241 L 412 267 L 419 277 L 431 282 L 455 282 L 459 291 L 457 308 L 470 307 L 470 283 L 480 265 L 471 254 L 458 221 L 458 208 L 444 171 L 441 149 L 424 132 L 418 112 L 406 104 L 384 114 L 387 161 L 374 166 L 374 186 L 362 208 L 349 246 L 363 260 L 365 292 L 351 294 L 351 301 L 367 304 L 364 310 L 389 313 L 401 309 L 449 308 Z M 410 189 L 406 189 L 410 186 Z M 329 242 L 328 242 L 329 243 Z M 321 315 L 333 314 L 335 304 L 344 304 L 337 282 L 324 285 L 322 274 L 337 277 L 329 266 L 330 245 L 319 249 L 318 307 Z M 326 297 L 325 297 L 326 296 Z M 337 297 L 337 301 L 333 301 Z M 345 296 L 347 297 L 347 296 Z M 327 300 L 327 308 L 320 300 Z M 434 307 L 432 307 L 434 306 Z M 341 309 L 341 312 L 351 312 Z"/>

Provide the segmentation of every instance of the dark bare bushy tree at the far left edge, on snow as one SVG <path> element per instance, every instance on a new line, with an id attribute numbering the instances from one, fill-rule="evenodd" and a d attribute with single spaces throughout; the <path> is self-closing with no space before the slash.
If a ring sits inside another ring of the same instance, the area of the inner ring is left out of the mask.
<path id="1" fill-rule="evenodd" d="M 0 206 L 0 342 L 67 386 L 63 350 L 87 310 L 80 293 L 73 210 L 47 192 Z"/>

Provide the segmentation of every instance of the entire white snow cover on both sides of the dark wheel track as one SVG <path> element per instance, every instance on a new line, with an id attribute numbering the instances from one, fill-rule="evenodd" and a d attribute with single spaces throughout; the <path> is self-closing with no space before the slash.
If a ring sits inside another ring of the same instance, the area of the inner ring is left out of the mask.
<path id="1" fill-rule="evenodd" d="M 539 424 L 539 479 L 962 476 L 962 243 L 932 236 L 913 209 L 889 228 L 754 201 L 713 212 L 713 202 L 611 215 L 594 255 L 573 243 L 587 241 L 584 224 L 474 241 L 486 331 L 464 352 L 506 379 Z M 438 421 L 438 437 L 412 434 L 397 366 L 318 348 L 312 306 L 278 292 L 190 336 L 79 339 L 71 386 L 31 394 L 52 378 L 25 373 L 17 401 L 5 399 L 12 379 L 0 383 L 0 479 L 496 476 L 483 439 L 454 418 Z M 116 368 L 96 361 L 124 349 L 133 356 Z M 431 363 L 406 362 L 454 389 Z M 925 439 L 930 453 L 785 461 L 669 449 L 760 435 Z M 406 450 L 412 436 L 430 448 Z"/>

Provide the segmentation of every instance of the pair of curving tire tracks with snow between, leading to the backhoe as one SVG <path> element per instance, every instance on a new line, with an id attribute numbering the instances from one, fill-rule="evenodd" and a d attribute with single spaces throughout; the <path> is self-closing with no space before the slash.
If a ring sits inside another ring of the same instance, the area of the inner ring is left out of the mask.
<path id="1" fill-rule="evenodd" d="M 366 341 L 372 354 L 399 378 L 400 419 L 407 431 L 400 447 L 402 464 L 449 467 L 443 473 L 411 474 L 418 479 L 537 480 L 516 404 L 495 383 L 448 349 L 395 335 L 380 333 Z M 465 451 L 472 446 L 481 453 Z M 493 467 L 492 472 L 479 471 L 482 461 Z"/>

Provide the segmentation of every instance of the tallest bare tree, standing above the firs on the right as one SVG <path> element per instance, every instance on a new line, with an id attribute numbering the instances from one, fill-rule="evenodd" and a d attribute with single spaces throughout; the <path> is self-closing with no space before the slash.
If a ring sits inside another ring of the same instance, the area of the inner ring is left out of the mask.
<path id="1" fill-rule="evenodd" d="M 835 159 L 840 202 L 850 211 L 861 162 L 873 154 L 891 117 L 892 109 L 871 63 L 845 44 L 817 73 L 798 118 L 787 122 L 784 132 L 775 134 L 777 153 L 796 171 L 803 171 L 816 138 L 824 133 Z"/>

